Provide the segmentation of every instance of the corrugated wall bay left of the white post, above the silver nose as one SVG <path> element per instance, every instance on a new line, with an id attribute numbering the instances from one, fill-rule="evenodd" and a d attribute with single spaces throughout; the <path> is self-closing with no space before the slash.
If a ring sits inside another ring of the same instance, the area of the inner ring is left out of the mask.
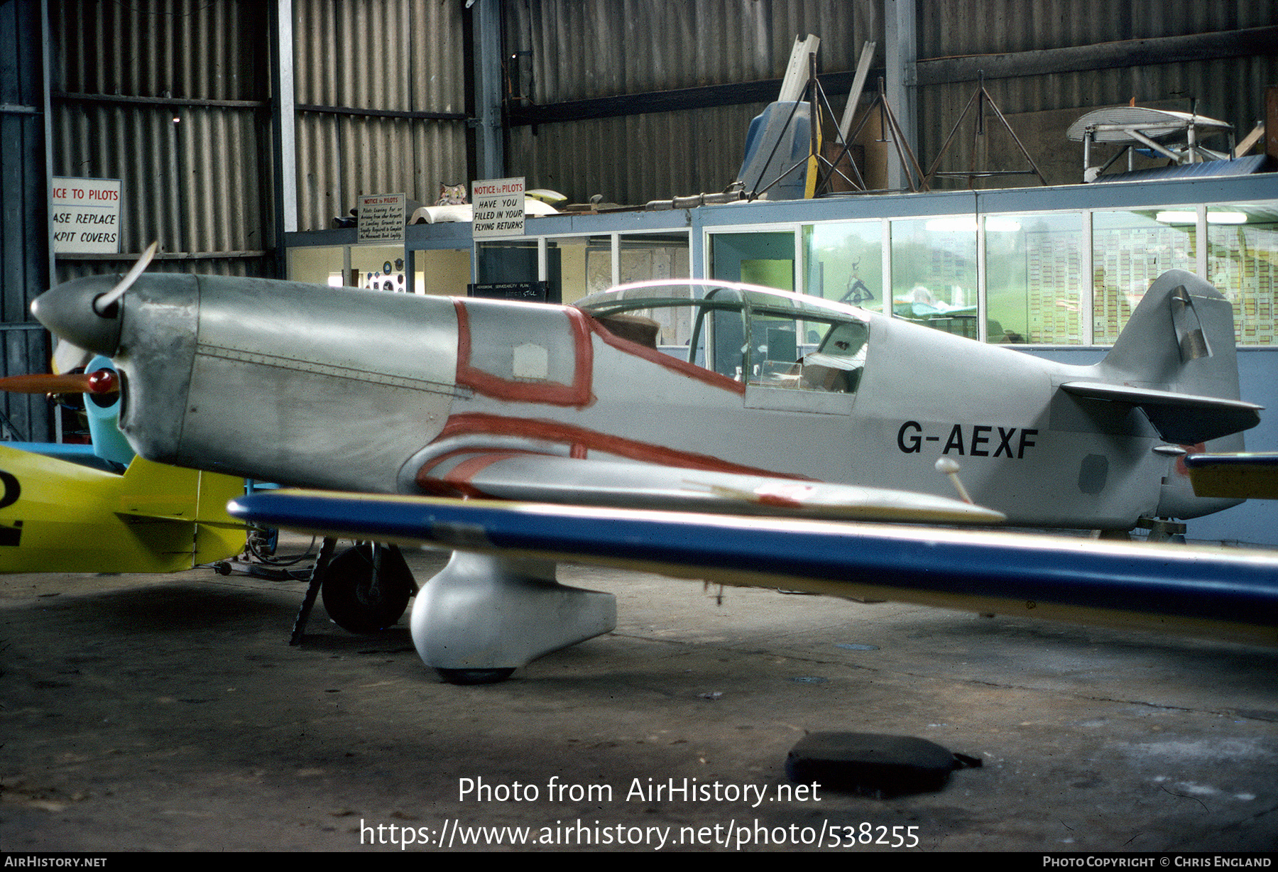
<path id="1" fill-rule="evenodd" d="M 50 4 L 54 175 L 121 180 L 123 261 L 158 240 L 153 270 L 263 272 L 273 247 L 265 9 Z M 58 275 L 118 269 L 59 257 Z"/>

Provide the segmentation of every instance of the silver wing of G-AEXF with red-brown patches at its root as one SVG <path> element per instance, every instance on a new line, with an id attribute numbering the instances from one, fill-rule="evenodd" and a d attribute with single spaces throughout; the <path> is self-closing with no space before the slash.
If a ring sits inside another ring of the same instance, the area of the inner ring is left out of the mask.
<path id="1" fill-rule="evenodd" d="M 929 524 L 1005 520 L 1001 511 L 930 494 L 527 451 L 451 455 L 415 481 L 437 496 L 567 505 Z"/>

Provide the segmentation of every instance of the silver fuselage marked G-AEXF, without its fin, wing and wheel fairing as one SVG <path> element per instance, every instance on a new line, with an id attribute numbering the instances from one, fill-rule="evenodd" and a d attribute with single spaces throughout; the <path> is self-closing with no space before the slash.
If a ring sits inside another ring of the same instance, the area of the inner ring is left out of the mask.
<path id="1" fill-rule="evenodd" d="M 1139 409 L 1059 390 L 1095 367 L 845 307 L 797 326 L 769 315 L 754 352 L 750 325 L 732 343 L 714 327 L 717 348 L 709 325 L 671 348 L 624 338 L 589 306 L 151 274 L 115 325 L 78 325 L 109 285 L 68 283 L 41 298 L 41 317 L 114 358 L 121 430 L 178 465 L 469 494 L 481 462 L 468 458 L 532 453 L 953 496 L 934 469 L 948 456 L 973 499 L 1016 526 L 1127 529 L 1233 504 L 1192 497 Z M 817 366 L 854 327 L 863 348 Z"/>

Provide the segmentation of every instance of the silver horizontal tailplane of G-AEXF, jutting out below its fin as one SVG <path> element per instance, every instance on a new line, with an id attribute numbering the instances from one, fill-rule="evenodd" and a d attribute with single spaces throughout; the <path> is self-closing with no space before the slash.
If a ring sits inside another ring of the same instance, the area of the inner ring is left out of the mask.
<path id="1" fill-rule="evenodd" d="M 1067 381 L 1061 385 L 1061 390 L 1075 396 L 1139 407 L 1158 435 L 1176 445 L 1197 445 L 1250 430 L 1260 423 L 1260 410 L 1264 409 L 1263 405 L 1242 400 L 1098 381 Z"/>

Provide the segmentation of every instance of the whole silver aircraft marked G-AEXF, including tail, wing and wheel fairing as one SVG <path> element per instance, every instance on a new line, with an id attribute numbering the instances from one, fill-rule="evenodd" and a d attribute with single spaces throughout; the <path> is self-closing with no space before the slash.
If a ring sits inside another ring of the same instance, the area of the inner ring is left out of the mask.
<path id="1" fill-rule="evenodd" d="M 33 308 L 112 358 L 139 454 L 349 494 L 1126 531 L 1233 505 L 1194 496 L 1177 462 L 1238 450 L 1259 421 L 1229 303 L 1180 271 L 1091 367 L 714 281 L 567 307 L 194 275 L 105 295 L 114 283 Z M 947 496 L 944 459 L 978 505 Z M 418 596 L 427 664 L 493 678 L 612 628 L 611 596 L 475 536 Z"/>

